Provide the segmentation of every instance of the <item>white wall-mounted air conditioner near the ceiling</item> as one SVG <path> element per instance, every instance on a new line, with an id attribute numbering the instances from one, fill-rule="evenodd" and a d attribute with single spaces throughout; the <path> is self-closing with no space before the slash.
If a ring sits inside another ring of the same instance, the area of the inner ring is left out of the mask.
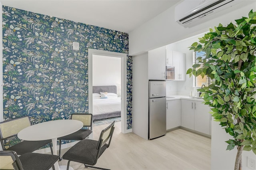
<path id="1" fill-rule="evenodd" d="M 175 21 L 184 27 L 242 0 L 184 0 L 175 7 Z"/>

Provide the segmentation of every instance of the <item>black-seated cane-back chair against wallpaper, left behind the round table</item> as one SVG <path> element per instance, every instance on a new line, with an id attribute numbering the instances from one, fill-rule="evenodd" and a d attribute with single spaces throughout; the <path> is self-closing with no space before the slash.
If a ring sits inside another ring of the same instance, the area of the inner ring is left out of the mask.
<path id="1" fill-rule="evenodd" d="M 42 148 L 46 144 L 50 144 L 52 151 L 52 140 L 28 141 L 24 140 L 10 147 L 4 147 L 4 140 L 12 136 L 16 136 L 20 130 L 31 126 L 30 118 L 28 116 L 9 121 L 0 122 L 0 140 L 3 150 L 14 150 L 18 155 L 22 155 Z"/>

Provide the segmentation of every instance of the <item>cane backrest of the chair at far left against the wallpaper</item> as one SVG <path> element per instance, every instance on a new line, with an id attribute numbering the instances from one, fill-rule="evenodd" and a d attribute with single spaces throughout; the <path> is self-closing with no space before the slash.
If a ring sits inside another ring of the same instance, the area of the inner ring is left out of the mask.
<path id="1" fill-rule="evenodd" d="M 20 130 L 30 126 L 31 123 L 28 116 L 0 122 L 0 140 L 2 148 L 4 149 L 4 139 L 15 136 Z"/>

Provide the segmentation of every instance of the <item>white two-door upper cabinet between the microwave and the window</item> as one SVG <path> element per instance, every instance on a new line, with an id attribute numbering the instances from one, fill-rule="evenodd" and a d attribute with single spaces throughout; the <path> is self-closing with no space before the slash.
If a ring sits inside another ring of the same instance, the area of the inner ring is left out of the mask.
<path id="1" fill-rule="evenodd" d="M 186 54 L 172 51 L 172 63 L 174 66 L 174 80 L 186 80 Z"/>

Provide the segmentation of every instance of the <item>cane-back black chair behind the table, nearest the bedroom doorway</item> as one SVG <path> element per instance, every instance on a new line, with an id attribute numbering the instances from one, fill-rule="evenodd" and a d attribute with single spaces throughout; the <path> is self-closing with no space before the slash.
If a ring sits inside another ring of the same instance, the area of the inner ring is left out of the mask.
<path id="1" fill-rule="evenodd" d="M 60 142 L 60 148 L 59 148 L 60 160 L 62 160 L 62 158 L 60 158 L 61 140 L 83 140 L 92 133 L 92 114 L 72 114 L 71 119 L 81 121 L 82 123 L 84 123 L 83 127 L 90 127 L 90 129 L 80 129 L 72 134 L 58 138 Z"/>

